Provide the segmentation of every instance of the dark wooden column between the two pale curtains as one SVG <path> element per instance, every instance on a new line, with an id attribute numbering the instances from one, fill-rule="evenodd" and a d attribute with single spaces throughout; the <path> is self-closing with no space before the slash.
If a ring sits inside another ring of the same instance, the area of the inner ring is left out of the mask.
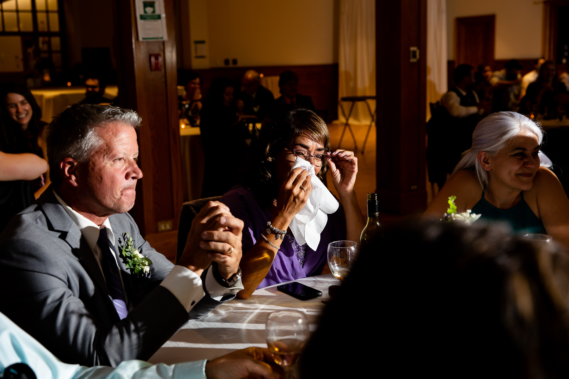
<path id="1" fill-rule="evenodd" d="M 385 213 L 427 207 L 426 8 L 426 0 L 376 0 L 376 177 Z M 417 61 L 410 61 L 413 47 L 419 49 Z"/>

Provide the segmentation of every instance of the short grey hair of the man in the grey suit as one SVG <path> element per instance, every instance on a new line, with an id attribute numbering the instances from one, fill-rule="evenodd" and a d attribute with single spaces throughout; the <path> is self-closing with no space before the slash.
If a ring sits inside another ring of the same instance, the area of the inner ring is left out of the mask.
<path id="1" fill-rule="evenodd" d="M 67 107 L 53 118 L 46 130 L 47 161 L 53 184 L 60 184 L 60 164 L 64 158 L 85 162 L 101 146 L 103 140 L 96 128 L 109 123 L 123 123 L 138 129 L 141 120 L 133 110 L 108 105 L 76 104 Z"/>

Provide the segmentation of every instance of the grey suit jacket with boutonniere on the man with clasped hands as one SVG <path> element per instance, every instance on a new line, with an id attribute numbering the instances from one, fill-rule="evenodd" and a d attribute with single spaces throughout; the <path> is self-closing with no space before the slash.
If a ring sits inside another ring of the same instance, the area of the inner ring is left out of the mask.
<path id="1" fill-rule="evenodd" d="M 152 261 L 150 278 L 142 278 L 118 259 L 129 309 L 123 320 L 92 250 L 51 188 L 0 234 L 0 312 L 65 363 L 117 366 L 147 360 L 188 318 L 200 318 L 234 297 L 218 302 L 204 287 L 205 297 L 188 314 L 159 286 L 174 265 L 142 238 L 129 214 L 112 215 L 109 222 L 116 239 L 129 232 Z"/>

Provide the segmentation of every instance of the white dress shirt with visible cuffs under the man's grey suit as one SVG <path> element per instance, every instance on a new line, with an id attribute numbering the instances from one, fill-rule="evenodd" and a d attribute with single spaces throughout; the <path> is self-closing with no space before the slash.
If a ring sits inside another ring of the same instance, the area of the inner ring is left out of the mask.
<path id="1" fill-rule="evenodd" d="M 73 222 L 75 222 L 77 227 L 79 227 L 81 234 L 83 235 L 89 247 L 93 251 L 93 254 L 95 256 L 95 259 L 97 260 L 99 268 L 101 268 L 101 249 L 97 245 L 97 240 L 99 238 L 99 231 L 102 228 L 106 228 L 107 236 L 109 237 L 110 243 L 112 243 L 113 246 L 115 244 L 114 232 L 113 228 L 110 226 L 109 218 L 105 219 L 105 221 L 99 227 L 97 226 L 96 223 L 92 222 L 85 216 L 77 213 L 70 206 L 68 206 L 67 203 L 65 203 L 65 201 L 63 201 L 63 199 L 61 199 L 59 195 L 57 195 L 55 190 L 53 190 L 53 194 L 55 195 L 55 198 L 57 199 L 57 201 L 59 201 L 63 209 L 65 209 L 67 214 L 71 217 Z M 109 247 L 109 250 L 113 254 L 115 262 L 117 263 L 116 261 L 117 256 L 114 255 L 113 249 Z M 241 279 L 238 280 L 236 284 L 234 284 L 231 288 L 226 288 L 222 286 L 217 282 L 215 277 L 213 277 L 212 270 L 213 266 L 211 266 L 208 269 L 208 273 L 205 277 L 205 289 L 208 291 L 209 296 L 214 300 L 220 301 L 221 298 L 224 297 L 225 295 L 233 294 L 239 290 L 244 289 L 244 287 L 241 284 Z M 103 272 L 102 268 L 101 272 Z M 119 268 L 119 273 L 121 274 L 121 282 L 122 282 L 122 272 L 120 268 Z M 172 294 L 174 294 L 174 296 L 182 304 L 185 310 L 188 311 L 188 313 L 193 308 L 193 306 L 195 306 L 197 302 L 199 302 L 200 299 L 204 297 L 205 294 L 202 287 L 201 278 L 195 272 L 193 272 L 188 268 L 185 268 L 184 266 L 175 265 L 172 268 L 172 270 L 170 270 L 170 273 L 168 273 L 168 275 L 164 278 L 164 280 L 162 280 L 160 285 L 169 290 Z M 124 291 L 125 288 L 124 284 L 122 288 Z M 128 303 L 128 298 L 126 297 L 127 295 L 126 291 L 124 292 L 125 292 L 125 298 Z"/>

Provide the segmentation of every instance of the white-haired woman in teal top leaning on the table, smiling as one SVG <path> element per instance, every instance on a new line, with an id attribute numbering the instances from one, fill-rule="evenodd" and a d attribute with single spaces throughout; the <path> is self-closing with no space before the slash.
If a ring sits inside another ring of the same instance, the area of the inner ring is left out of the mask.
<path id="1" fill-rule="evenodd" d="M 486 116 L 425 215 L 442 218 L 455 195 L 457 212 L 471 209 L 483 219 L 509 222 L 514 232 L 549 234 L 569 247 L 569 199 L 539 151 L 542 139 L 542 129 L 524 115 Z"/>

